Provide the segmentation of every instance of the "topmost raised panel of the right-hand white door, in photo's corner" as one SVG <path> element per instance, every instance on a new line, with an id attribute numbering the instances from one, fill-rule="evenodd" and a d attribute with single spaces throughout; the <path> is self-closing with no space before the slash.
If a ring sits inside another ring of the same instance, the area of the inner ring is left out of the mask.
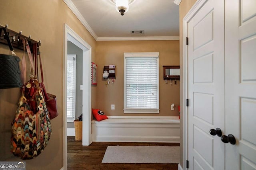
<path id="1" fill-rule="evenodd" d="M 242 0 L 241 5 L 241 14 L 242 14 L 242 22 L 245 22 L 254 16 L 256 16 L 256 0 Z"/>

